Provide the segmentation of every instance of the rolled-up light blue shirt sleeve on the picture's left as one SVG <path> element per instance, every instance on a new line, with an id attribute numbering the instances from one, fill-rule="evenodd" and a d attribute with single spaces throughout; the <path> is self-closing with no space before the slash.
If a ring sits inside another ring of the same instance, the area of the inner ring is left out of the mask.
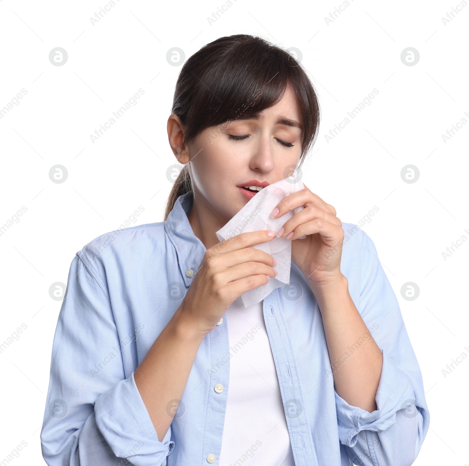
<path id="1" fill-rule="evenodd" d="M 159 442 L 134 372 L 124 374 L 106 284 L 78 255 L 53 340 L 41 446 L 49 466 L 159 466 L 174 449 L 171 428 Z"/>

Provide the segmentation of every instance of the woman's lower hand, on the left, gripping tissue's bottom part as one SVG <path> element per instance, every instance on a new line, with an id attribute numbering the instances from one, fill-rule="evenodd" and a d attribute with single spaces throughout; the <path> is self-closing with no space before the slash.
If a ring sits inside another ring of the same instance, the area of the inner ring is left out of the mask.
<path id="1" fill-rule="evenodd" d="M 188 320 L 193 330 L 206 335 L 236 298 L 277 275 L 272 268 L 277 261 L 250 247 L 273 238 L 275 231 L 252 231 L 207 249 L 180 308 L 183 320 Z"/>

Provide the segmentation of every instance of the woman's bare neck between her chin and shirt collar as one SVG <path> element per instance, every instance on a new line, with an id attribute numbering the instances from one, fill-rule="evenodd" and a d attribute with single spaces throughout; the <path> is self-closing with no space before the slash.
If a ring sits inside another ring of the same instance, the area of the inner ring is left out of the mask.
<path id="1" fill-rule="evenodd" d="M 192 231 L 202 241 L 206 249 L 219 243 L 216 232 L 225 226 L 229 219 L 223 219 L 209 206 L 206 199 L 194 191 L 194 203 L 187 216 Z"/>

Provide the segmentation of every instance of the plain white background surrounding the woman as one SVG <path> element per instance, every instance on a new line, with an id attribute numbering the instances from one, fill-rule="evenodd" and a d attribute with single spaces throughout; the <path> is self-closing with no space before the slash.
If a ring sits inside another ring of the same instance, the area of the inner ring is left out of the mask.
<path id="1" fill-rule="evenodd" d="M 442 256 L 469 237 L 469 124 L 442 138 L 464 116 L 469 121 L 469 6 L 445 25 L 458 0 L 355 0 L 327 24 L 340 0 L 233 0 L 210 24 L 224 4 L 120 0 L 93 25 L 106 0 L 0 0 L 0 108 L 27 91 L 0 119 L 0 226 L 27 208 L 0 236 L 0 343 L 27 326 L 0 353 L 0 461 L 24 441 L 14 464 L 43 462 L 39 433 L 61 306 L 49 296 L 51 284 L 66 283 L 75 253 L 138 206 L 144 212 L 133 225 L 163 219 L 172 187 L 166 170 L 175 163 L 166 120 L 181 69 L 166 53 L 179 47 L 188 58 L 216 38 L 248 33 L 299 49 L 317 87 L 322 121 L 303 182 L 343 222 L 379 209 L 363 230 L 399 299 L 431 415 L 414 464 L 469 463 L 469 358 L 442 373 L 461 352 L 469 355 L 469 244 Z M 68 53 L 63 66 L 49 61 L 56 47 Z M 415 66 L 401 61 L 408 47 L 420 53 Z M 93 143 L 94 130 L 140 88 L 137 105 Z M 375 88 L 371 105 L 327 142 L 325 134 Z M 56 164 L 68 170 L 64 183 L 49 179 Z M 409 164 L 420 172 L 415 183 L 401 178 Z M 401 296 L 407 282 L 420 290 L 413 301 Z"/>

